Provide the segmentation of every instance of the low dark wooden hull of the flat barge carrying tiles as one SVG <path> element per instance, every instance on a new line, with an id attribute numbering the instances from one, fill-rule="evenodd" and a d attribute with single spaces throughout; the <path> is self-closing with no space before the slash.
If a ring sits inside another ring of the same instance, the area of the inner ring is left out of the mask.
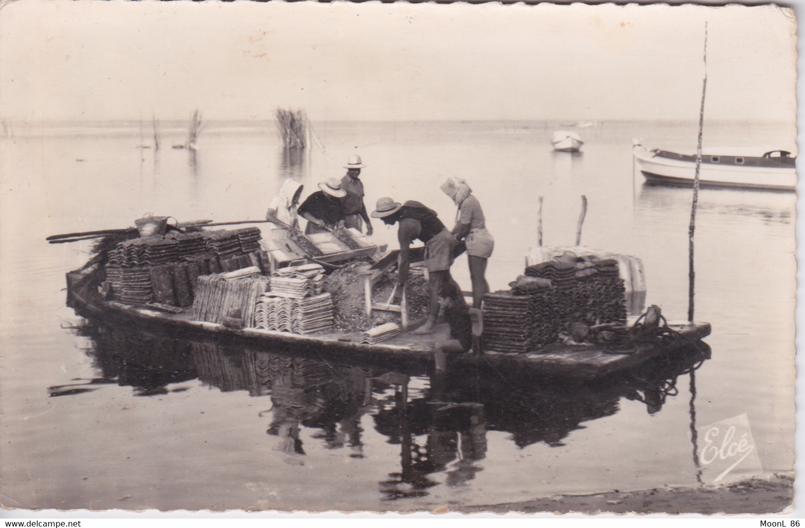
<path id="1" fill-rule="evenodd" d="M 68 273 L 68 305 L 82 314 L 101 315 L 116 326 L 163 327 L 189 335 L 233 339 L 250 346 L 286 347 L 319 357 L 357 356 L 403 364 L 430 364 L 434 343 L 447 339 L 448 335 L 447 325 L 441 325 L 432 335 L 404 334 L 385 343 L 365 344 L 361 343 L 360 334 L 296 335 L 254 328 L 231 328 L 193 320 L 192 314 L 169 314 L 106 301 L 98 293 L 92 273 L 81 272 Z M 678 339 L 630 340 L 618 347 L 608 343 L 573 345 L 555 342 L 528 353 L 486 351 L 484 360 L 495 368 L 526 368 L 546 376 L 590 379 L 629 368 L 703 339 L 710 334 L 710 325 L 706 322 L 671 321 L 668 322 L 668 330 Z M 475 359 L 472 355 L 462 355 L 460 361 L 474 363 Z"/>

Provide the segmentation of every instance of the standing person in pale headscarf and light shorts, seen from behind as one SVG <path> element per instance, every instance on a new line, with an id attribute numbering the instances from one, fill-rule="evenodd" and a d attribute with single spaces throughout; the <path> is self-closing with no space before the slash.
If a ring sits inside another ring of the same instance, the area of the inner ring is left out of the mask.
<path id="1" fill-rule="evenodd" d="M 453 227 L 452 233 L 456 240 L 464 239 L 467 243 L 469 276 L 473 281 L 473 307 L 481 308 L 484 295 L 489 293 L 489 283 L 485 276 L 486 262 L 492 256 L 494 239 L 486 230 L 481 202 L 478 202 L 466 181 L 451 177 L 442 184 L 441 189 L 458 207 L 456 227 Z"/>

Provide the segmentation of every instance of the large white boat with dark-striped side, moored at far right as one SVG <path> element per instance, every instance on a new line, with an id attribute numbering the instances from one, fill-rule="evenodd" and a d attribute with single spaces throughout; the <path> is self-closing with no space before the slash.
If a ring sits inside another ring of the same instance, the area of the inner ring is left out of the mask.
<path id="1" fill-rule="evenodd" d="M 634 158 L 646 183 L 693 185 L 696 154 L 679 154 L 634 143 Z M 784 150 L 708 148 L 702 152 L 699 185 L 793 191 L 797 185 L 796 156 Z"/>

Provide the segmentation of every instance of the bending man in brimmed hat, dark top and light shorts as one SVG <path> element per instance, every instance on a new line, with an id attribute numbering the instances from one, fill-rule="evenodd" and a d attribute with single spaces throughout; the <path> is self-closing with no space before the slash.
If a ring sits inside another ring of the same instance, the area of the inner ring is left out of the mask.
<path id="1" fill-rule="evenodd" d="M 411 333 L 432 334 L 436 330 L 436 318 L 439 316 L 439 290 L 444 284 L 450 282 L 455 284 L 450 276 L 450 266 L 453 262 L 453 236 L 436 217 L 436 211 L 413 200 L 399 204 L 389 197 L 380 198 L 372 217 L 382 218 L 382 221 L 389 226 L 399 222 L 397 231 L 397 239 L 400 244 L 399 285 L 405 285 L 408 278 L 411 243 L 415 239 L 425 243 L 427 285 L 431 290 L 430 313 L 427 315 L 427 321 Z M 397 295 L 400 294 L 402 288 L 398 290 Z M 462 298 L 461 301 L 463 302 L 464 299 Z"/>

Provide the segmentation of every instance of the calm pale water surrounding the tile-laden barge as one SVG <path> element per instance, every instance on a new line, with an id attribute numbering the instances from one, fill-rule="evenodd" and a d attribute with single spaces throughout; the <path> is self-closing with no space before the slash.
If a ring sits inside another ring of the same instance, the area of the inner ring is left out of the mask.
<path id="1" fill-rule="evenodd" d="M 451 175 L 471 183 L 496 239 L 493 289 L 522 272 L 536 243 L 537 197 L 544 243 L 565 245 L 586 195 L 582 243 L 642 258 L 648 303 L 685 318 L 691 192 L 642 185 L 631 144 L 692 152 L 695 123 L 599 123 L 581 130 L 579 155 L 551 152 L 556 127 L 319 123 L 321 146 L 304 156 L 283 153 L 270 123 L 213 123 L 196 154 L 169 148 L 183 140 L 178 127 L 163 131 L 158 152 L 138 148 L 136 123 L 0 140 L 4 504 L 408 510 L 696 484 L 691 420 L 743 413 L 763 469 L 790 470 L 793 193 L 703 189 L 696 319 L 712 323 L 712 357 L 595 384 L 483 368 L 438 380 L 417 368 L 110 328 L 64 305 L 64 272 L 83 263 L 89 243 L 44 243 L 149 212 L 262 218 L 284 177 L 310 192 L 359 153 L 368 205 L 416 199 L 452 226 L 438 185 Z M 709 144 L 786 148 L 792 137 L 793 127 L 763 123 L 705 130 Z M 395 232 L 375 227 L 393 247 Z M 466 268 L 460 259 L 454 273 L 469 289 Z"/>

